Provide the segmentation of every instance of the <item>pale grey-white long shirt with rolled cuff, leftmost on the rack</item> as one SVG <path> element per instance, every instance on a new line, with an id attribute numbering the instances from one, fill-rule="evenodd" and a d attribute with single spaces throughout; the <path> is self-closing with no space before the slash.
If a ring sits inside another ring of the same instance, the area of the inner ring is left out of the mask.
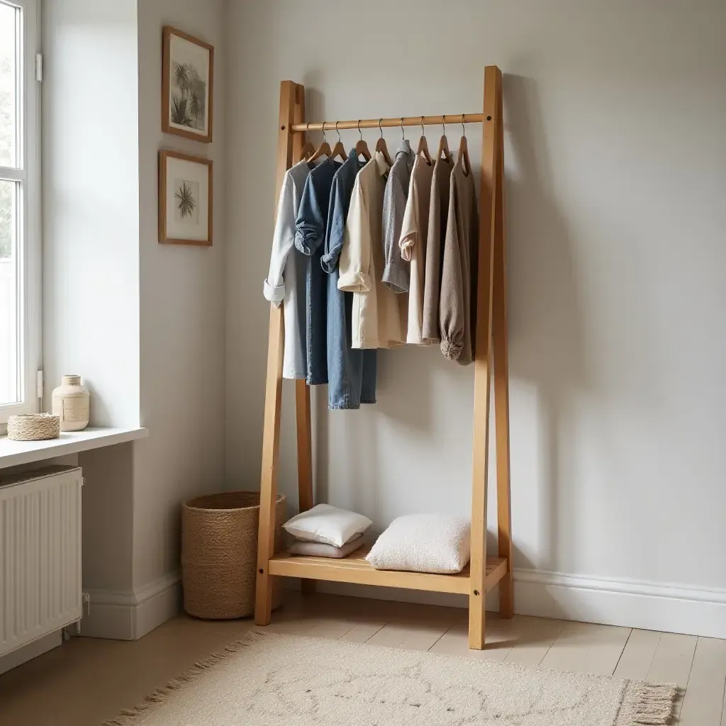
<path id="1" fill-rule="evenodd" d="M 285 172 L 282 179 L 277 221 L 272 237 L 270 269 L 263 292 L 275 307 L 284 301 L 285 353 L 282 378 L 307 378 L 306 353 L 306 279 L 307 259 L 295 249 L 295 219 L 303 195 L 305 180 L 312 166 L 305 160 Z"/>

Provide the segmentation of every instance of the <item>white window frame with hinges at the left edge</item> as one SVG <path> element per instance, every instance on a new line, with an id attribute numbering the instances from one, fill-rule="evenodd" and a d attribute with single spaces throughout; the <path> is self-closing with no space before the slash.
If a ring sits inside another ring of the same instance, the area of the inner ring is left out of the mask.
<path id="1" fill-rule="evenodd" d="M 37 371 L 41 370 L 41 84 L 36 62 L 41 52 L 40 0 L 2 0 L 22 11 L 17 97 L 20 99 L 18 168 L 0 166 L 0 179 L 20 181 L 17 207 L 17 280 L 20 294 L 20 370 L 23 401 L 0 404 L 0 429 L 9 416 L 38 412 Z M 1 433 L 1 431 L 0 431 Z"/>

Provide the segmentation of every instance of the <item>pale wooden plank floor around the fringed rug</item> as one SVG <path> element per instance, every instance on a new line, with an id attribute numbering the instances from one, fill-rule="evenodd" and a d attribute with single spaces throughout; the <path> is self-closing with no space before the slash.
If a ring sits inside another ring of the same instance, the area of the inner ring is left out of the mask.
<path id="1" fill-rule="evenodd" d="M 0 725 L 98 726 L 254 627 L 179 616 L 135 643 L 73 638 L 0 676 Z M 477 652 L 467 647 L 464 610 L 294 593 L 267 629 L 677 682 L 685 696 L 674 723 L 726 726 L 726 640 L 492 613 L 487 648 Z"/>

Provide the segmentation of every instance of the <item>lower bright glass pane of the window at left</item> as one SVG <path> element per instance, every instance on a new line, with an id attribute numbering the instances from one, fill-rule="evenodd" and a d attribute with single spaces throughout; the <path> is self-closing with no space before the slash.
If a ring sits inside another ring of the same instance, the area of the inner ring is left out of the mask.
<path id="1" fill-rule="evenodd" d="M 0 405 L 20 401 L 17 187 L 15 181 L 0 181 Z"/>

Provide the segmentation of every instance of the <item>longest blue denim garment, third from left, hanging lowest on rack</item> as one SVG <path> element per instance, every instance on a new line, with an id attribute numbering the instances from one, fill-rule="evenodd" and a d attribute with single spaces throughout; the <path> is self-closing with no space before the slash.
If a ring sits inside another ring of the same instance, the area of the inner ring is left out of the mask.
<path id="1" fill-rule="evenodd" d="M 375 404 L 376 351 L 351 347 L 353 293 L 338 290 L 338 260 L 356 174 L 364 162 L 355 150 L 333 177 L 322 267 L 327 272 L 327 396 L 330 409 L 358 409 Z"/>

